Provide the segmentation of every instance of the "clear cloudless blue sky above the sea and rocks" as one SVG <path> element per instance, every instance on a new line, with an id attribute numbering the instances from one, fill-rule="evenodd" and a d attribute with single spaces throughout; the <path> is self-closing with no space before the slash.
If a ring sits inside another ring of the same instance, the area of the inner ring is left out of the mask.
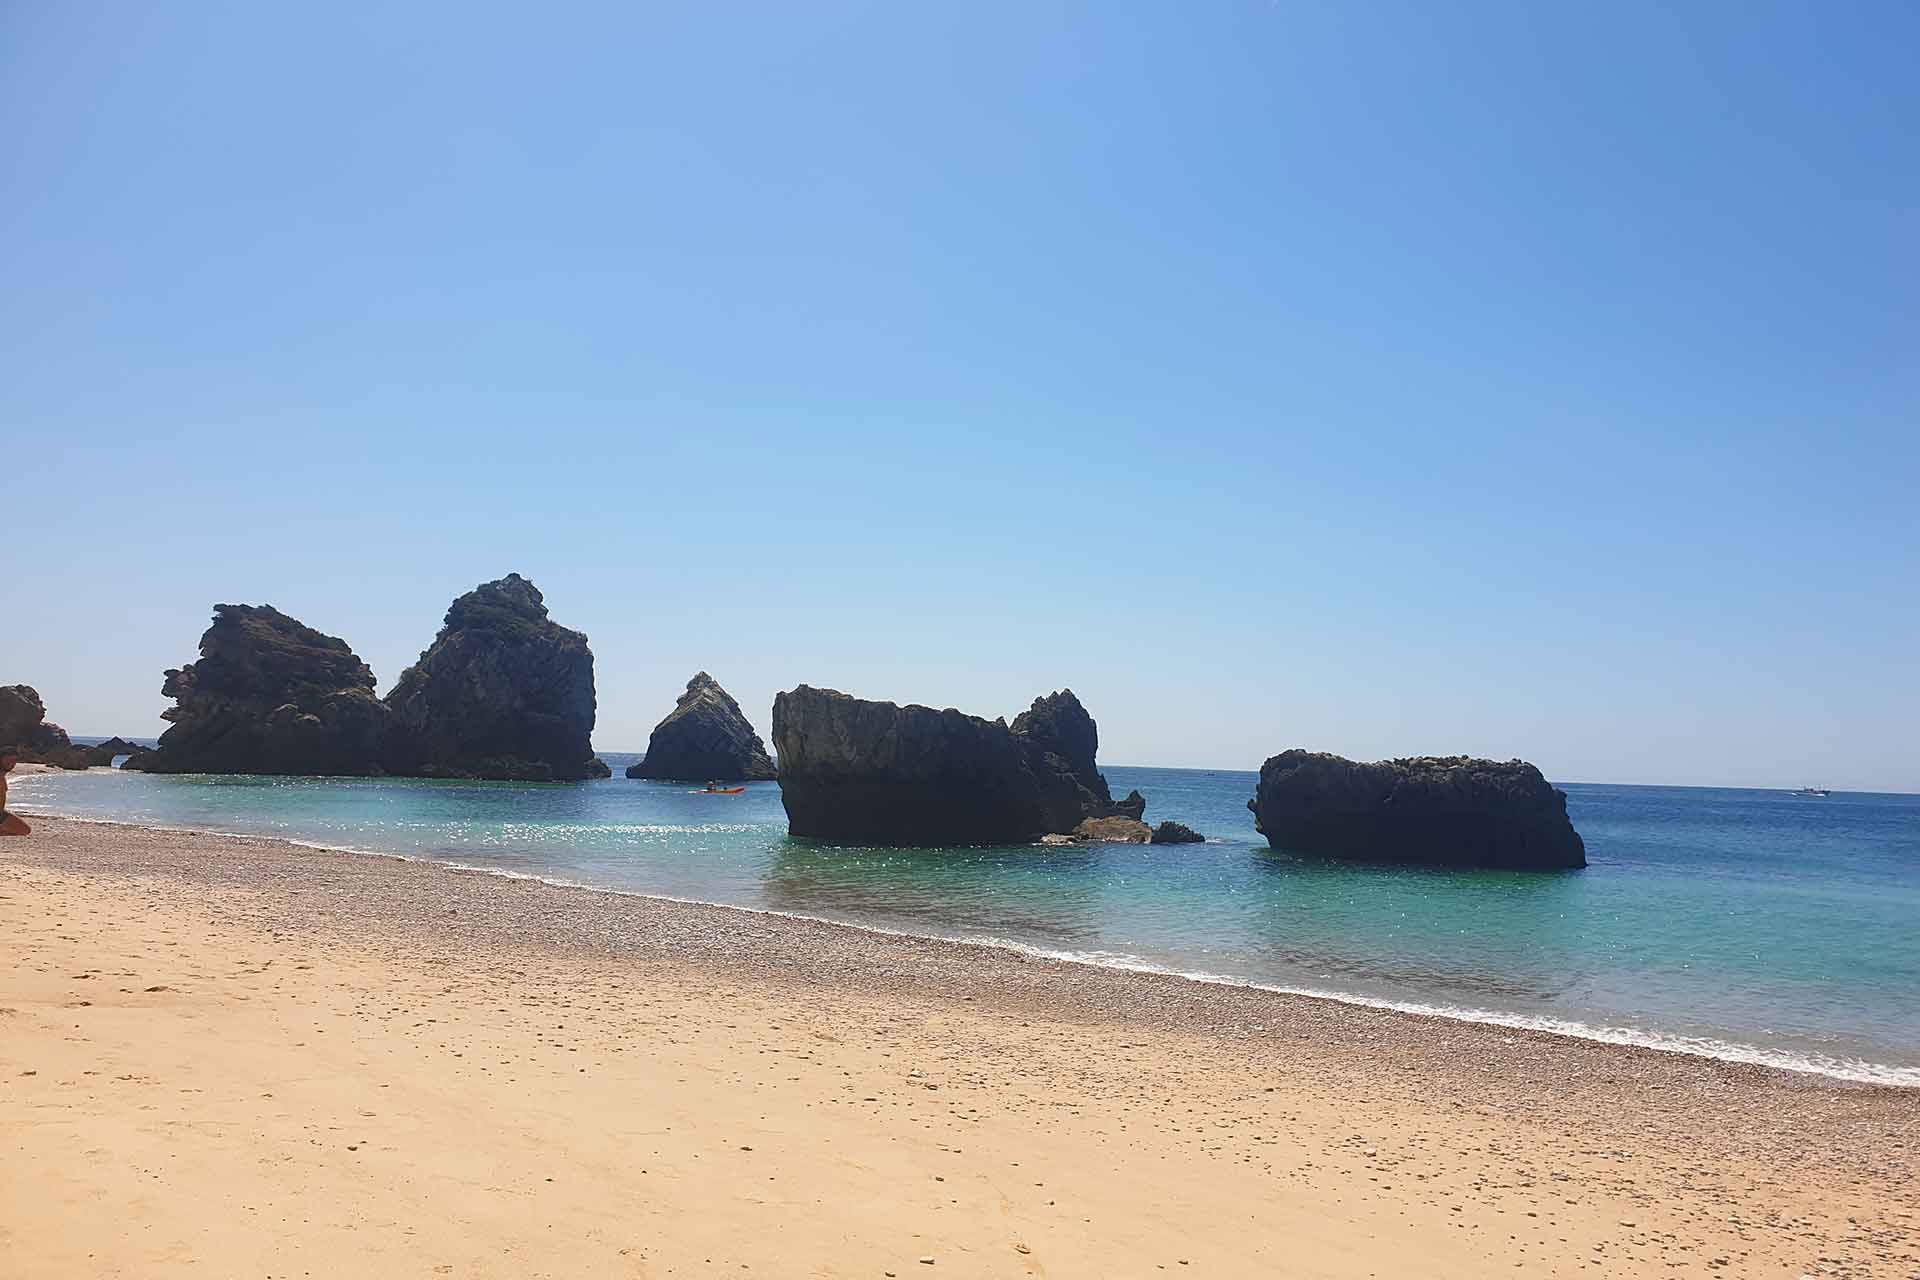
<path id="1" fill-rule="evenodd" d="M 0 681 L 697 668 L 1920 789 L 1912 4 L 12 4 Z"/>

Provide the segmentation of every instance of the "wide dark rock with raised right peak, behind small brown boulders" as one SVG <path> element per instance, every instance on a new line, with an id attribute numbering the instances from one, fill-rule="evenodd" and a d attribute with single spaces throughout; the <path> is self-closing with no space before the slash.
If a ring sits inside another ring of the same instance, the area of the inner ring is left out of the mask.
<path id="1" fill-rule="evenodd" d="M 1020 844 L 1112 818 L 1098 733 L 1071 691 L 1010 727 L 801 685 L 774 699 L 793 835 L 870 844 Z M 1144 802 L 1142 802 L 1144 806 Z"/>

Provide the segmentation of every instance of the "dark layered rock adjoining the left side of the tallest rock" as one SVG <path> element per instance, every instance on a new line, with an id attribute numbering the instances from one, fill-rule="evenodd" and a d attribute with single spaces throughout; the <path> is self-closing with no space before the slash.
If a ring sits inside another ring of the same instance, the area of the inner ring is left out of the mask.
<path id="1" fill-rule="evenodd" d="M 380 773 L 388 708 L 348 643 L 271 604 L 215 604 L 200 660 L 167 672 L 175 706 L 150 773 Z"/>

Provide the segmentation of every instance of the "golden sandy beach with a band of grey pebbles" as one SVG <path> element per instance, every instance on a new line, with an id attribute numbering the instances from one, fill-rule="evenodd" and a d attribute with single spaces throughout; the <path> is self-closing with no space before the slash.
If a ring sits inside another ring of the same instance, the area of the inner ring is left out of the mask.
<path id="1" fill-rule="evenodd" d="M 35 827 L 10 1280 L 1920 1274 L 1920 1090 Z"/>

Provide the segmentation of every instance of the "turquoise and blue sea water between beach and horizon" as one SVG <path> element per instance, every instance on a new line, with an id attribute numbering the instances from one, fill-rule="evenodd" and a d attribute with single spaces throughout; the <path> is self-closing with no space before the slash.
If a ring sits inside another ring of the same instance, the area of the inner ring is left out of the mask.
<path id="1" fill-rule="evenodd" d="M 46 773 L 15 808 L 275 835 L 1920 1084 L 1920 796 L 1567 785 L 1586 871 L 1269 852 L 1252 773 L 1110 768 L 1188 846 L 833 848 L 780 789 Z"/>

